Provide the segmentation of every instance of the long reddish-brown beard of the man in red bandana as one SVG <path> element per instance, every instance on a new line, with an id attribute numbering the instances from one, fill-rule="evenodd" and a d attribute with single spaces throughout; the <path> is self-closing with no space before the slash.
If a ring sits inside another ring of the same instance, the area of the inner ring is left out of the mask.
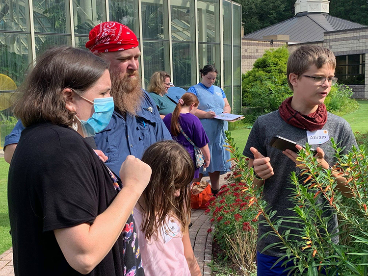
<path id="1" fill-rule="evenodd" d="M 135 77 L 131 78 L 130 75 L 135 75 Z M 136 116 L 141 108 L 144 93 L 138 72 L 127 71 L 125 75 L 122 75 L 119 72 L 110 71 L 110 78 L 110 95 L 114 98 L 115 110 Z"/>

